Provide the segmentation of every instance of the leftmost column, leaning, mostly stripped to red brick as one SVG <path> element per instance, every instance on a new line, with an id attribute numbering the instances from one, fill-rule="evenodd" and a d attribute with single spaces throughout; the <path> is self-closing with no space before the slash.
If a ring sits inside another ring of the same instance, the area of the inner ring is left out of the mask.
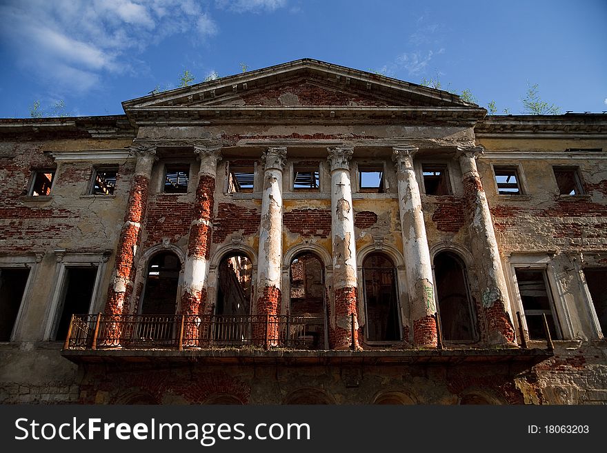
<path id="1" fill-rule="evenodd" d="M 133 289 L 133 281 L 135 281 L 135 255 L 139 243 L 141 243 L 141 223 L 146 216 L 148 188 L 152 166 L 156 160 L 155 144 L 135 144 L 130 147 L 130 150 L 137 155 L 137 163 L 130 185 L 128 205 L 116 250 L 114 271 L 105 310 L 106 314 L 116 316 L 129 312 L 128 299 Z M 115 319 L 115 321 L 119 321 L 119 319 Z M 106 338 L 111 343 L 118 345 L 120 324 L 110 323 L 108 330 Z"/>

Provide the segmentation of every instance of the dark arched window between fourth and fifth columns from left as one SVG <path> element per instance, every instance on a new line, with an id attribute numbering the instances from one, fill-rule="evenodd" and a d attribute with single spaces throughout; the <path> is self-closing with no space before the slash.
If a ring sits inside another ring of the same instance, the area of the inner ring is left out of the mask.
<path id="1" fill-rule="evenodd" d="M 399 341 L 400 316 L 395 266 L 383 253 L 372 253 L 363 261 L 366 334 L 369 341 Z"/>

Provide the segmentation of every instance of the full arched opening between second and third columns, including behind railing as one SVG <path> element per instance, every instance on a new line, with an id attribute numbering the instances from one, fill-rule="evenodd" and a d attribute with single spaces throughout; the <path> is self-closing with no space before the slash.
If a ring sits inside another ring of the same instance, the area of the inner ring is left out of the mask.
<path id="1" fill-rule="evenodd" d="M 220 343 L 241 343 L 251 339 L 252 263 L 244 254 L 226 256 L 219 263 L 215 331 Z"/>

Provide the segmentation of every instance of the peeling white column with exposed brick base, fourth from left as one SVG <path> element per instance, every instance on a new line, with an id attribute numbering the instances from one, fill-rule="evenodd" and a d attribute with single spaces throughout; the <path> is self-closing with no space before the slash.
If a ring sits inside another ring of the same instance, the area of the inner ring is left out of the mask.
<path id="1" fill-rule="evenodd" d="M 357 265 L 354 210 L 350 184 L 352 148 L 328 148 L 331 167 L 331 240 L 333 249 L 333 292 L 335 331 L 333 349 L 359 347 L 357 316 Z M 352 314 L 355 317 L 352 332 Z"/>

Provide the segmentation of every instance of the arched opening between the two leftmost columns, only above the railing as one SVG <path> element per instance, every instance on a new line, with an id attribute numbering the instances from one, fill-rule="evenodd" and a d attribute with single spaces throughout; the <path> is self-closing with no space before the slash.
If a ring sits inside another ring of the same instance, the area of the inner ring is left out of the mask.
<path id="1" fill-rule="evenodd" d="M 150 259 L 141 314 L 175 314 L 181 262 L 173 252 L 161 252 Z"/>

